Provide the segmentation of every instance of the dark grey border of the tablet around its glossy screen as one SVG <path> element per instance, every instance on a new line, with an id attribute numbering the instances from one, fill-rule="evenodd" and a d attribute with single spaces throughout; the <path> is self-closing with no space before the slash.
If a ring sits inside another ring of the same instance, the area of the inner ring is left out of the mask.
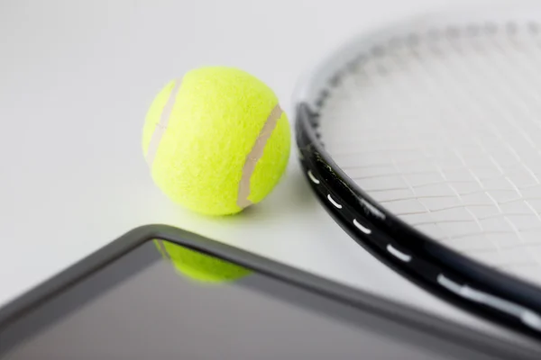
<path id="1" fill-rule="evenodd" d="M 211 256 L 223 258 L 255 272 L 271 276 L 281 282 L 303 288 L 311 293 L 317 293 L 335 302 L 341 302 L 355 308 L 356 311 L 370 313 L 381 320 L 399 323 L 412 331 L 426 333 L 426 335 L 440 338 L 449 344 L 477 351 L 484 355 L 509 359 L 538 358 L 540 356 L 539 353 L 535 354 L 531 349 L 518 347 L 513 343 L 492 338 L 397 302 L 391 302 L 388 299 L 337 284 L 316 275 L 310 275 L 242 249 L 230 247 L 224 243 L 167 225 L 147 225 L 133 229 L 96 253 L 70 266 L 59 275 L 8 303 L 0 309 L 0 336 L 2 332 L 9 329 L 10 324 L 39 307 L 41 303 L 47 302 L 70 286 L 78 284 L 87 276 L 93 275 L 115 262 L 116 259 L 123 257 L 135 247 L 155 238 L 168 240 Z"/>

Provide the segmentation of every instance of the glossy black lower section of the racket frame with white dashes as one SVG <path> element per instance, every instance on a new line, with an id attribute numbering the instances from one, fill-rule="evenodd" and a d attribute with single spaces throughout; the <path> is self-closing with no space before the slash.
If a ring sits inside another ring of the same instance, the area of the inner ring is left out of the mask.
<path id="1" fill-rule="evenodd" d="M 464 257 L 386 211 L 345 175 L 326 152 L 318 131 L 319 121 L 316 110 L 307 103 L 298 103 L 295 130 L 300 164 L 307 183 L 326 211 L 357 244 L 445 301 L 541 340 L 541 331 L 528 326 L 518 314 L 472 299 L 472 294 L 481 292 L 538 315 L 541 289 Z M 458 284 L 464 293 L 443 286 L 438 281 L 442 276 Z"/>

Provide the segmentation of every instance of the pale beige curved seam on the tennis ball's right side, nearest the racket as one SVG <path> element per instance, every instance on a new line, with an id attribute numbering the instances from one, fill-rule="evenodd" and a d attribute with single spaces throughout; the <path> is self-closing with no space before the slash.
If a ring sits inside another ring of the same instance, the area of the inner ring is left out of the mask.
<path id="1" fill-rule="evenodd" d="M 269 117 L 263 124 L 257 139 L 255 139 L 255 142 L 253 143 L 252 150 L 246 155 L 237 195 L 237 205 L 242 209 L 252 205 L 252 202 L 248 200 L 248 196 L 250 196 L 250 193 L 252 192 L 250 188 L 252 174 L 255 171 L 257 162 L 263 156 L 263 150 L 267 145 L 267 141 L 271 138 L 272 131 L 276 128 L 282 113 L 283 111 L 280 108 L 280 104 L 276 104 L 276 106 L 272 108 Z"/>

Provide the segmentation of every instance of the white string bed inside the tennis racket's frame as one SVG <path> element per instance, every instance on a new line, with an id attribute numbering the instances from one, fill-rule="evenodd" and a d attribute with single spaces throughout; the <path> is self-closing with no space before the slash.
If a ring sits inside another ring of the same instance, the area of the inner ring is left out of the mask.
<path id="1" fill-rule="evenodd" d="M 541 84 L 541 47 L 527 26 L 527 36 L 468 28 L 390 40 L 350 66 L 321 109 L 326 148 L 375 200 L 518 273 L 541 268 L 541 108 L 530 85 Z"/>

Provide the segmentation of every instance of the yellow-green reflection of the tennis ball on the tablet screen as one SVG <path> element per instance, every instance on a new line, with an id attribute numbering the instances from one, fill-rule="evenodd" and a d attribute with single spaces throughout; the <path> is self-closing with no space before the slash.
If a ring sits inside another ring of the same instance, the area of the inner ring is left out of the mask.
<path id="1" fill-rule="evenodd" d="M 243 266 L 229 263 L 217 257 L 181 247 L 169 241 L 154 240 L 163 257 L 170 259 L 175 268 L 188 278 L 203 283 L 224 283 L 250 274 Z"/>

